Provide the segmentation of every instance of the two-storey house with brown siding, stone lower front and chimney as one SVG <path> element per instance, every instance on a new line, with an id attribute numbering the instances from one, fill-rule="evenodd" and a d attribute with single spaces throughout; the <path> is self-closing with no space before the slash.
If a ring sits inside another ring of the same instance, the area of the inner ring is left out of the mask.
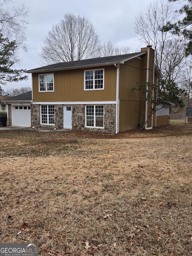
<path id="1" fill-rule="evenodd" d="M 145 122 L 149 105 L 133 88 L 143 81 L 157 83 L 162 77 L 151 47 L 139 53 L 61 62 L 26 73 L 32 73 L 30 126 L 109 133 L 138 129 L 146 106 Z M 12 110 L 19 106 L 11 105 Z M 16 118 L 12 113 L 12 125 Z M 168 124 L 168 117 L 155 113 L 145 128 L 157 124 Z"/>

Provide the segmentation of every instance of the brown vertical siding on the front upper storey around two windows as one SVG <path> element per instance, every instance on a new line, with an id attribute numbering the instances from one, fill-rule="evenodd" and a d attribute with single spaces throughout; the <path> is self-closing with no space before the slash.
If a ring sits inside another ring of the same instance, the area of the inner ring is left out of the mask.
<path id="1" fill-rule="evenodd" d="M 38 73 L 34 73 L 33 101 L 116 101 L 117 68 L 107 66 L 96 69 L 99 68 L 104 68 L 104 90 L 84 91 L 84 70 L 88 69 L 72 69 L 54 72 L 54 92 L 39 92 Z"/>

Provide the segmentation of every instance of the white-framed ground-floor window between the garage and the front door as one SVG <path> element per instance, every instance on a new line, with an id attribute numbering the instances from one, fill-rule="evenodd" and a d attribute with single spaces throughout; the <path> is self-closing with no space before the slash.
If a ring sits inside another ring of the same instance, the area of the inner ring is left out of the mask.
<path id="1" fill-rule="evenodd" d="M 41 105 L 41 124 L 55 125 L 55 105 Z"/>

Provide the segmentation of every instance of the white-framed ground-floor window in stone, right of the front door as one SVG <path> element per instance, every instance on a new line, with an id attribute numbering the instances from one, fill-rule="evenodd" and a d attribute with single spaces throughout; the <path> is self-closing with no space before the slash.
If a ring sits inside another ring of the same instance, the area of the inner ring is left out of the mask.
<path id="1" fill-rule="evenodd" d="M 85 127 L 104 128 L 104 105 L 86 105 Z"/>

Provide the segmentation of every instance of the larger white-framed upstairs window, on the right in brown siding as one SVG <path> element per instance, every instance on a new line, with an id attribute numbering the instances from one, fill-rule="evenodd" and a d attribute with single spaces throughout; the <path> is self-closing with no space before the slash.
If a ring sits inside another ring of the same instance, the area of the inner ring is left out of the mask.
<path id="1" fill-rule="evenodd" d="M 84 90 L 104 90 L 104 68 L 84 71 Z"/>

